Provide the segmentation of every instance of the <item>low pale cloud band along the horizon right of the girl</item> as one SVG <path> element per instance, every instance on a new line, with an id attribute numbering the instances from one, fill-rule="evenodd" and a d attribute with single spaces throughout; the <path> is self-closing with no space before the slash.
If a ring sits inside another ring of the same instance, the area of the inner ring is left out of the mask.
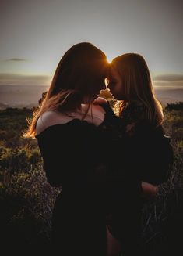
<path id="1" fill-rule="evenodd" d="M 159 74 L 153 77 L 153 85 L 174 88 L 183 87 L 183 74 Z"/>

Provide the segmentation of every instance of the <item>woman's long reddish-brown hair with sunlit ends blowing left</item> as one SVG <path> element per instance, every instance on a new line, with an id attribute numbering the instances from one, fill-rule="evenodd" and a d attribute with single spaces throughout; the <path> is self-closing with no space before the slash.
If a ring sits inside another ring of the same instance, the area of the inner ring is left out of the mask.
<path id="1" fill-rule="evenodd" d="M 58 63 L 48 92 L 33 112 L 24 137 L 35 137 L 37 120 L 45 111 L 77 110 L 86 99 L 87 114 L 93 97 L 103 88 L 106 68 L 107 57 L 100 49 L 88 42 L 73 45 Z"/>

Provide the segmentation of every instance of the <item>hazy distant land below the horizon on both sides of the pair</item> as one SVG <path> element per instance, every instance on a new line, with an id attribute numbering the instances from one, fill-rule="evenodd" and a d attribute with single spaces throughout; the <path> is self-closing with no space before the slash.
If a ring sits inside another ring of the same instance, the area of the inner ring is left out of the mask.
<path id="1" fill-rule="evenodd" d="M 28 107 L 37 106 L 42 93 L 46 92 L 48 86 L 40 85 L 0 85 L 0 109 L 6 107 Z M 180 102 L 183 99 L 183 88 L 156 87 L 157 99 L 165 106 L 167 103 Z"/>

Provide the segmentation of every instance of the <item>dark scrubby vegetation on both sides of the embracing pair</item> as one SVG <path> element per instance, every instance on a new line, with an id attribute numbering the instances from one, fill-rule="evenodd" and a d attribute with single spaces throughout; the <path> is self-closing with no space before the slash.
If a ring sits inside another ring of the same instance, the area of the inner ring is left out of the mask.
<path id="1" fill-rule="evenodd" d="M 22 137 L 31 115 L 26 108 L 0 111 L 0 243 L 5 254 L 48 252 L 51 212 L 61 189 L 47 182 L 37 140 Z M 155 200 L 144 203 L 142 236 L 147 256 L 183 254 L 183 103 L 165 107 L 164 128 L 171 135 L 174 166 Z"/>

